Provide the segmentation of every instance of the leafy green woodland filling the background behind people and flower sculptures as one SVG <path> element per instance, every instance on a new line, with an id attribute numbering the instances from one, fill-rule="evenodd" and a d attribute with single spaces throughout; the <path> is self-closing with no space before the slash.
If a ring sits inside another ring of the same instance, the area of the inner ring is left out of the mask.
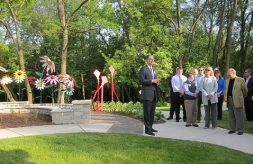
<path id="1" fill-rule="evenodd" d="M 160 98 L 166 100 L 167 77 L 177 66 L 210 65 L 223 74 L 234 67 L 240 76 L 252 68 L 252 28 L 251 0 L 1 0 L 0 65 L 36 76 L 42 71 L 39 57 L 46 55 L 57 74 L 74 77 L 72 99 L 90 99 L 97 84 L 93 71 L 110 79 L 113 65 L 120 101 L 135 102 L 138 71 L 150 53 L 161 79 Z M 23 100 L 39 94 L 22 85 L 28 95 Z M 17 85 L 8 87 L 17 92 Z M 43 102 L 50 101 L 47 92 Z M 3 88 L 0 101 L 6 101 Z"/>

